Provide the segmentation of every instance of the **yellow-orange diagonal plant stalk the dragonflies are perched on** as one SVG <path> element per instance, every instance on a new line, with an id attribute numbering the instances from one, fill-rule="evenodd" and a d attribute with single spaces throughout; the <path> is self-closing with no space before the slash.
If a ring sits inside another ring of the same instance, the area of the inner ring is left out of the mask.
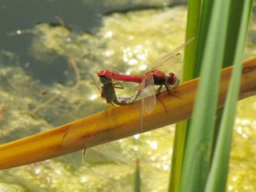
<path id="1" fill-rule="evenodd" d="M 231 70 L 232 66 L 222 70 L 218 107 L 224 105 Z M 154 111 L 151 114 L 144 114 L 142 132 L 190 118 L 197 86 L 198 78 L 195 78 L 178 86 L 181 94 L 179 98 L 166 94 L 166 91 L 160 94 L 168 113 L 157 101 Z M 254 94 L 256 94 L 256 58 L 243 62 L 239 99 Z M 39 162 L 138 134 L 141 132 L 139 108 L 139 101 L 133 105 L 115 107 L 106 111 L 104 116 L 103 113 L 94 114 L 52 130 L 3 144 L 0 146 L 0 169 Z M 66 134 L 70 127 L 72 131 Z"/>

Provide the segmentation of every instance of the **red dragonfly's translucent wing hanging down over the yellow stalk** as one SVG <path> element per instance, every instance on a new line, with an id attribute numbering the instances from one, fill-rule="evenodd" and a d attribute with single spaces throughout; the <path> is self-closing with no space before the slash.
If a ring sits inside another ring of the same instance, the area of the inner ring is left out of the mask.
<path id="1" fill-rule="evenodd" d="M 145 110 L 150 114 L 156 105 L 155 93 L 154 93 L 154 77 L 152 74 L 146 75 L 144 83 L 144 89 L 142 91 L 143 102 L 145 102 Z"/>

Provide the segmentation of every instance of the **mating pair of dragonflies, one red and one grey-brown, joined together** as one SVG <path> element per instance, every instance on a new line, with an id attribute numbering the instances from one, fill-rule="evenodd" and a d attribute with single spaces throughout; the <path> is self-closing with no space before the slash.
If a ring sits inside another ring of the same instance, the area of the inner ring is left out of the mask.
<path id="1" fill-rule="evenodd" d="M 123 106 L 133 103 L 136 100 L 136 98 L 138 98 L 138 96 L 141 95 L 142 111 L 145 109 L 147 113 L 152 112 L 156 105 L 154 86 L 159 86 L 158 90 L 156 91 L 157 96 L 162 90 L 162 86 L 166 87 L 166 91 L 168 94 L 174 95 L 173 89 L 178 86 L 179 82 L 177 76 L 174 73 L 170 72 L 170 74 L 166 75 L 162 70 L 158 69 L 160 69 L 162 66 L 166 66 L 166 64 L 168 64 L 170 60 L 172 60 L 172 58 L 174 58 L 175 56 L 180 55 L 178 52 L 193 40 L 194 38 L 188 40 L 187 42 L 182 44 L 182 46 L 178 46 L 178 48 L 176 48 L 170 54 L 167 54 L 163 58 L 160 58 L 158 64 L 154 66 L 154 68 L 148 71 L 146 74 L 118 74 L 110 70 L 102 70 L 98 72 L 98 77 L 100 78 L 100 82 L 102 83 L 102 87 L 100 90 L 102 98 L 105 98 L 106 102 L 108 103 L 114 103 L 118 106 Z M 115 93 L 115 89 L 123 88 L 119 82 L 139 83 L 138 90 L 134 95 L 130 97 L 118 97 Z M 146 96 L 149 97 L 146 98 Z M 144 98 L 146 98 L 146 103 L 144 102 Z M 158 99 L 162 103 L 161 99 Z M 163 103 L 162 106 L 164 106 Z"/>

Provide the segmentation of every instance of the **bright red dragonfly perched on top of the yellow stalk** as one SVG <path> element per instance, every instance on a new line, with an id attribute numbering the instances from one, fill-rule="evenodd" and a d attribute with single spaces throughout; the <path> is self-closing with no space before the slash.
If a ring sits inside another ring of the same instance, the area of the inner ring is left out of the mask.
<path id="1" fill-rule="evenodd" d="M 166 87 L 168 94 L 174 94 L 173 89 L 178 86 L 178 78 L 177 76 L 170 72 L 170 74 L 166 75 L 162 70 L 157 70 L 158 68 L 162 66 L 166 66 L 172 58 L 174 58 L 177 55 L 180 55 L 178 52 L 182 50 L 185 46 L 190 44 L 194 38 L 191 38 L 190 40 L 186 41 L 181 46 L 178 46 L 175 50 L 170 52 L 170 54 L 167 54 L 163 58 L 160 58 L 158 64 L 154 66 L 154 68 L 150 71 L 148 71 L 146 74 L 118 74 L 117 72 L 110 71 L 110 70 L 102 70 L 98 72 L 98 77 L 108 77 L 111 79 L 115 79 L 122 82 L 137 82 L 139 83 L 139 94 L 142 94 L 142 110 L 144 110 L 144 107 L 146 108 L 147 113 L 151 113 L 152 110 L 154 110 L 154 107 L 156 105 L 156 99 L 155 99 L 155 93 L 154 93 L 154 85 L 158 85 L 159 88 L 157 90 L 157 96 L 160 93 L 162 86 Z M 147 89 L 146 89 L 147 88 Z M 147 90 L 147 91 L 145 91 Z M 148 92 L 148 93 L 145 93 Z M 146 98 L 146 96 L 150 96 Z M 146 98 L 146 105 L 144 105 L 144 98 Z M 158 98 L 160 102 L 161 99 Z M 164 106 L 164 104 L 162 103 Z M 165 107 L 165 106 L 164 106 Z M 166 108 L 165 108 L 166 109 Z M 143 113 L 142 113 L 143 117 Z M 142 121 L 142 118 L 141 118 Z M 142 122 L 141 122 L 142 127 Z"/>

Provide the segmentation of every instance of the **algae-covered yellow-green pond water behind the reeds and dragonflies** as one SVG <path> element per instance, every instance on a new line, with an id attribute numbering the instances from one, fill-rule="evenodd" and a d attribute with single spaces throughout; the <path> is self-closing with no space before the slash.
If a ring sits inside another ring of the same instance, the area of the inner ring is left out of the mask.
<path id="1" fill-rule="evenodd" d="M 167 1 L 2 1 L 0 142 L 74 121 L 99 96 L 90 73 L 143 73 L 184 42 L 186 6 Z M 256 55 L 252 19 L 246 58 Z M 179 63 L 170 66 L 178 76 Z M 132 90 L 120 94 L 130 94 Z M 228 191 L 256 191 L 256 97 L 238 102 Z M 0 172 L 0 191 L 166 191 L 174 125 Z"/>

